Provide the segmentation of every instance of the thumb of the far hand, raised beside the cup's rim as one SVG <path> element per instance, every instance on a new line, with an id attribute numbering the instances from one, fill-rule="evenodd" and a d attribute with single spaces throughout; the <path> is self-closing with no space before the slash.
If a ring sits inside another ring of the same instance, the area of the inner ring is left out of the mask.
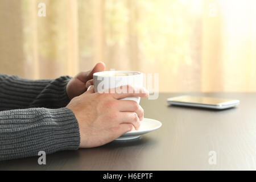
<path id="1" fill-rule="evenodd" d="M 77 78 L 82 82 L 86 82 L 93 78 L 93 73 L 102 71 L 105 71 L 105 64 L 103 62 L 99 62 L 90 71 L 80 72 L 79 75 L 77 75 Z"/>

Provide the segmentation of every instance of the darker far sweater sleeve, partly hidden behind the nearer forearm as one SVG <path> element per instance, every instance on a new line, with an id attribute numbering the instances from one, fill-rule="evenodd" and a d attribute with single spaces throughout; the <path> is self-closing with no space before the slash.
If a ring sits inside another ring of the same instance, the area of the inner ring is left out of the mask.
<path id="1" fill-rule="evenodd" d="M 30 107 L 60 108 L 68 104 L 69 76 L 55 80 L 27 80 L 0 74 L 0 111 Z"/>

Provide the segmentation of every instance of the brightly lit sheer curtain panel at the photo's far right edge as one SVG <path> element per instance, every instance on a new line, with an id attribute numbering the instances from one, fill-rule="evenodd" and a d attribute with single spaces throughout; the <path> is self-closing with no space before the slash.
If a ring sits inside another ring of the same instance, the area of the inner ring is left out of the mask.
<path id="1" fill-rule="evenodd" d="M 255 92 L 256 1 L 208 1 L 204 6 L 211 2 L 217 15 L 203 16 L 201 90 Z"/>

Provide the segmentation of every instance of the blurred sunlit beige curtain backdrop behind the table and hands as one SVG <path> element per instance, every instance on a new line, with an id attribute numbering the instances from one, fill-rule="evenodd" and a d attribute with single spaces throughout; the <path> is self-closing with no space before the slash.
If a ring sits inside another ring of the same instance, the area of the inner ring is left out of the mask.
<path id="1" fill-rule="evenodd" d="M 38 16 L 45 3 L 46 16 Z M 159 73 L 160 92 L 255 92 L 255 0 L 0 0 L 0 72 Z"/>

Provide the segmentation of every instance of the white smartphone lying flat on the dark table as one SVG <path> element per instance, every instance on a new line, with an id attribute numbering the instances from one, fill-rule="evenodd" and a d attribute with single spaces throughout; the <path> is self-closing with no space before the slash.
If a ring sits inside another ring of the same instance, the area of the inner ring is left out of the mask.
<path id="1" fill-rule="evenodd" d="M 201 97 L 201 96 L 179 96 L 167 98 L 171 105 L 205 107 L 210 109 L 228 109 L 240 104 L 239 100 L 229 100 L 224 98 Z"/>

